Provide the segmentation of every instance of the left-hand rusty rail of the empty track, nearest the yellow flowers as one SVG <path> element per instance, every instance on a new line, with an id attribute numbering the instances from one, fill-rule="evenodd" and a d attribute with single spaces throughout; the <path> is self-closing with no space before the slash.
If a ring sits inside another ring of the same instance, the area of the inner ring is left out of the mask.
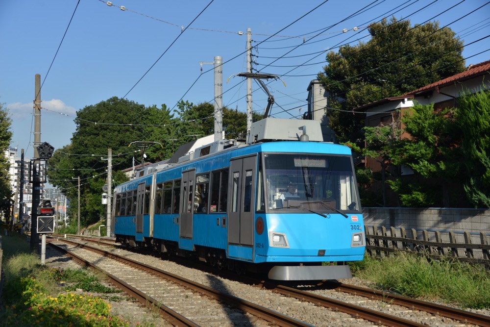
<path id="1" fill-rule="evenodd" d="M 66 242 L 66 240 L 63 240 L 63 242 Z M 70 242 L 70 241 L 68 241 L 68 242 L 70 244 L 76 244 L 74 242 Z M 126 292 L 130 296 L 134 297 L 140 303 L 144 304 L 148 308 L 157 307 L 158 310 L 159 310 L 159 312 L 160 312 L 160 315 L 165 320 L 167 320 L 169 323 L 171 323 L 173 326 L 179 326 L 179 327 L 180 326 L 182 326 L 182 327 L 185 327 L 185 326 L 187 326 L 187 327 L 198 327 L 199 326 L 199 325 L 195 324 L 193 321 L 191 321 L 191 320 L 187 319 L 186 317 L 182 316 L 178 312 L 172 310 L 168 306 L 166 306 L 166 305 L 164 305 L 164 304 L 156 301 L 152 297 L 147 296 L 143 292 L 140 292 L 139 290 L 137 290 L 136 288 L 132 287 L 128 283 L 124 282 L 123 280 L 119 279 L 118 277 L 116 277 L 116 276 L 114 276 L 114 275 L 106 272 L 105 270 L 103 270 L 100 267 L 92 264 L 91 262 L 83 259 L 82 257 L 74 254 L 73 252 L 70 252 L 70 251 L 68 251 L 66 249 L 63 249 L 62 247 L 60 247 L 60 246 L 58 246 L 56 244 L 50 243 L 50 242 L 49 242 L 49 245 L 52 246 L 52 247 L 55 247 L 59 251 L 65 252 L 66 254 L 68 254 L 69 256 L 73 257 L 75 260 L 77 260 L 81 264 L 98 270 L 99 272 L 101 272 L 102 274 L 104 274 L 105 276 L 107 276 L 117 287 L 121 288 L 124 292 Z"/>

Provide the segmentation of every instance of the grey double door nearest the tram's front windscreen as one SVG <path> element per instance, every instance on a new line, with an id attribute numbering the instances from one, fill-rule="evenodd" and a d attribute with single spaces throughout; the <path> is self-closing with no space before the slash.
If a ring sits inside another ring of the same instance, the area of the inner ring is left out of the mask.
<path id="1" fill-rule="evenodd" d="M 228 190 L 228 243 L 253 245 L 257 156 L 232 159 Z"/>

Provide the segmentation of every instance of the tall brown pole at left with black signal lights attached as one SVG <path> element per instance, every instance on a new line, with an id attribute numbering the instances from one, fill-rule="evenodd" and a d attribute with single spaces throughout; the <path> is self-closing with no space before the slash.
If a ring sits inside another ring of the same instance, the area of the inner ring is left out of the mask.
<path id="1" fill-rule="evenodd" d="M 39 158 L 37 146 L 41 144 L 41 75 L 35 75 L 34 91 L 34 158 Z M 37 251 L 39 234 L 37 232 L 37 207 L 41 199 L 41 160 L 34 161 L 32 174 L 32 210 L 31 210 L 31 251 Z"/>

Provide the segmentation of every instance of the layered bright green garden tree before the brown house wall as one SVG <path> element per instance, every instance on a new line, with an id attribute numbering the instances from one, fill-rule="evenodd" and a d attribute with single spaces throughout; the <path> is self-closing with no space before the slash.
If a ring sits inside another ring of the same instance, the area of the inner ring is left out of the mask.
<path id="1" fill-rule="evenodd" d="M 434 104 L 416 104 L 401 121 L 410 138 L 399 143 L 392 161 L 410 167 L 415 176 L 390 181 L 392 189 L 405 206 L 450 206 L 447 183 L 460 176 L 454 108 L 436 110 Z"/>

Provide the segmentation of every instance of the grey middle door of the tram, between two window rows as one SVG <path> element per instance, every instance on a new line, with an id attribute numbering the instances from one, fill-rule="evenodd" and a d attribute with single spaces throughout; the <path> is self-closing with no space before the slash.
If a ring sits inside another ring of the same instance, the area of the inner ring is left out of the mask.
<path id="1" fill-rule="evenodd" d="M 182 173 L 180 196 L 180 237 L 192 239 L 192 219 L 194 214 L 194 188 L 196 170 Z"/>

